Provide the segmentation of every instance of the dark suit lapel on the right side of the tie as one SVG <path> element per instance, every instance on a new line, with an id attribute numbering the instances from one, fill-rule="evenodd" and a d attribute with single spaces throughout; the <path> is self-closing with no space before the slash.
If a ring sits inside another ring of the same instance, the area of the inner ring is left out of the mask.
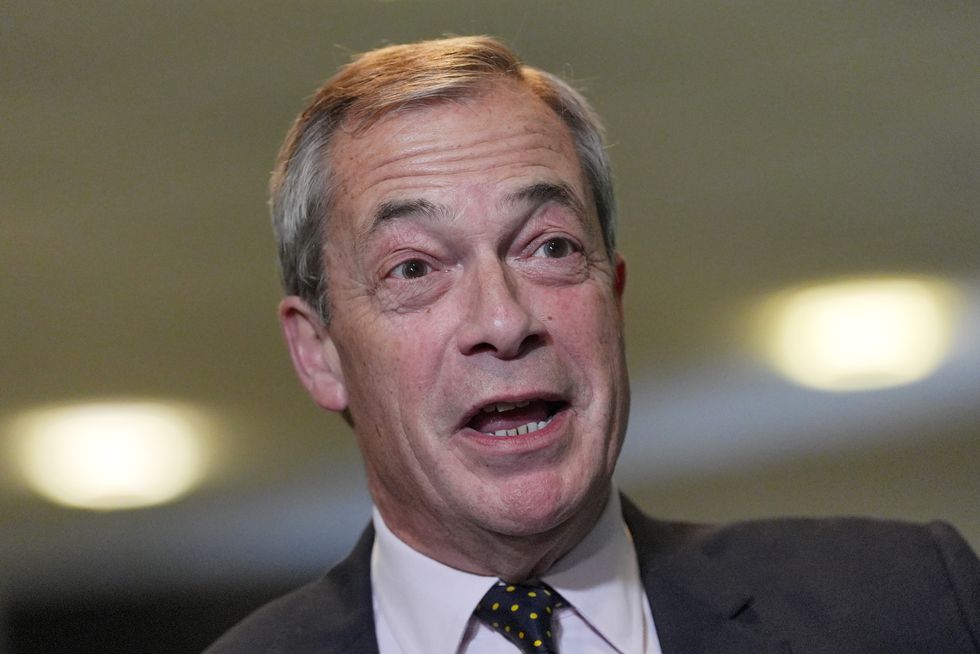
<path id="1" fill-rule="evenodd" d="M 753 610 L 730 570 L 691 546 L 697 527 L 650 520 L 623 497 L 663 654 L 790 654 Z M 686 546 L 685 546 L 686 545 Z"/>

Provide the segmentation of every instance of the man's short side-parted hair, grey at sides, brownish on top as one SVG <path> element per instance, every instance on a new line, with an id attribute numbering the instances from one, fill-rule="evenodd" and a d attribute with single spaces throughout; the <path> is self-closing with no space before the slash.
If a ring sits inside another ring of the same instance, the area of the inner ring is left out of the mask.
<path id="1" fill-rule="evenodd" d="M 396 45 L 356 57 L 329 79 L 293 123 L 270 184 L 272 224 L 287 294 L 331 316 L 324 253 L 332 205 L 330 145 L 338 128 L 362 131 L 383 116 L 440 100 L 469 97 L 502 79 L 517 81 L 568 127 L 595 202 L 608 256 L 615 249 L 616 206 L 602 123 L 569 84 L 525 66 L 499 41 L 457 37 Z"/>

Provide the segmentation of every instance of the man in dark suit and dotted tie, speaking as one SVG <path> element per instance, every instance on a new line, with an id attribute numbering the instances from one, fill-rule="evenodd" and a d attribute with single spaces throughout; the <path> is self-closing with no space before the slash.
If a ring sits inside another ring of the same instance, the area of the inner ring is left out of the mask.
<path id="1" fill-rule="evenodd" d="M 375 503 L 324 578 L 209 652 L 976 652 L 950 528 L 708 527 L 612 488 L 626 429 L 599 123 L 489 38 L 362 55 L 282 150 L 280 319 Z"/>

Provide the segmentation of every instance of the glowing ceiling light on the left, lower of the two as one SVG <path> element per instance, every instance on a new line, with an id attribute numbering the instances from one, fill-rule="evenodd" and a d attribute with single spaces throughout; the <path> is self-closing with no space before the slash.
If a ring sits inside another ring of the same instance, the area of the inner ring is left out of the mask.
<path id="1" fill-rule="evenodd" d="M 171 501 L 204 473 L 201 417 L 168 404 L 96 403 L 16 419 L 30 485 L 72 507 L 123 509 Z"/>

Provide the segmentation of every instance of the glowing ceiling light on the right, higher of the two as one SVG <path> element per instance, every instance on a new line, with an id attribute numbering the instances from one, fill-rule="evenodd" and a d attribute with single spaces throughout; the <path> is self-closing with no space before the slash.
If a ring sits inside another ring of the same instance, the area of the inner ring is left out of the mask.
<path id="1" fill-rule="evenodd" d="M 872 277 L 787 291 L 764 311 L 772 365 L 792 381 L 852 391 L 908 384 L 948 353 L 953 291 L 923 278 Z"/>

